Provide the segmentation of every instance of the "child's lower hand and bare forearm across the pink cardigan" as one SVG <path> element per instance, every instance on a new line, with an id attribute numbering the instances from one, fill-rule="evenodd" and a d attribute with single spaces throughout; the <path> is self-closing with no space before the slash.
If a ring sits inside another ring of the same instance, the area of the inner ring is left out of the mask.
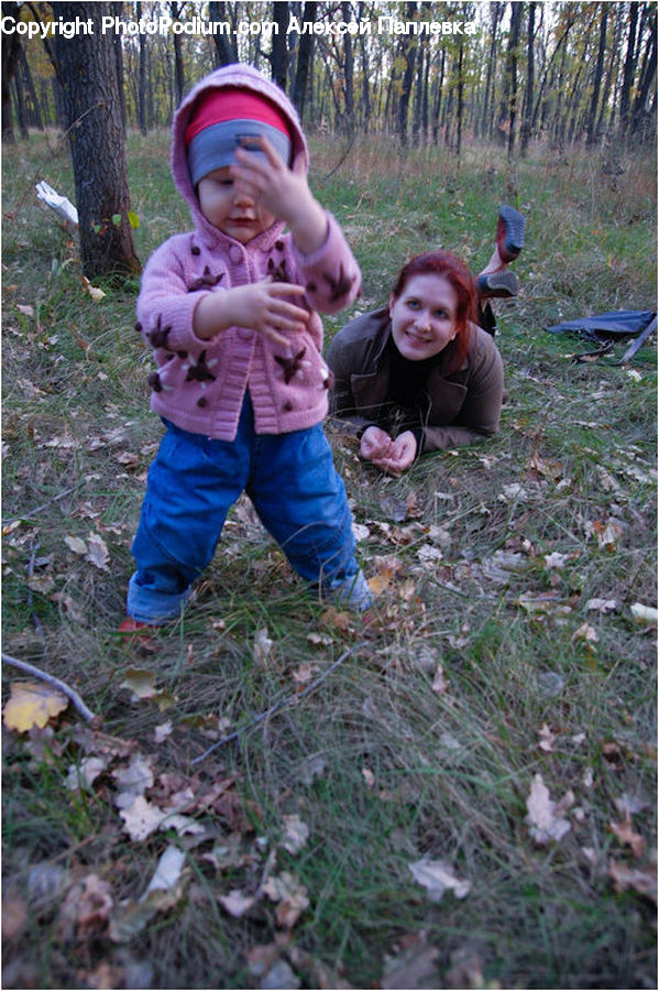
<path id="1" fill-rule="evenodd" d="M 197 337 L 209 340 L 229 327 L 248 327 L 275 344 L 287 347 L 290 340 L 282 330 L 304 330 L 309 312 L 296 306 L 283 296 L 304 296 L 305 288 L 288 282 L 264 279 L 248 285 L 204 295 L 193 318 Z"/>

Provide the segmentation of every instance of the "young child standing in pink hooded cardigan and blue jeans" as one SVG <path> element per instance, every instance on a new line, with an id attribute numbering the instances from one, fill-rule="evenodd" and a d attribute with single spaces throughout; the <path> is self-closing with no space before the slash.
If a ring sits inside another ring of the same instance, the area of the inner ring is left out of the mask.
<path id="1" fill-rule="evenodd" d="M 194 229 L 151 257 L 138 300 L 166 433 L 132 547 L 123 632 L 179 616 L 243 491 L 321 597 L 371 605 L 322 431 L 329 372 L 317 313 L 353 302 L 361 276 L 307 166 L 295 108 L 250 66 L 211 73 L 176 112 L 172 173 Z"/>

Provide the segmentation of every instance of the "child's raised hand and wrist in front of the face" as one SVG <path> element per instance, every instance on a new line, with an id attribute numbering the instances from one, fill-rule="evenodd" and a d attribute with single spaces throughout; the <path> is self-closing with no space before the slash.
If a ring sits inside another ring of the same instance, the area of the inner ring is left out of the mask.
<path id="1" fill-rule="evenodd" d="M 265 160 L 243 148 L 235 151 L 230 170 L 235 186 L 285 220 L 303 254 L 312 254 L 327 238 L 327 217 L 309 189 L 305 157 L 298 153 L 288 168 L 267 138 L 257 141 Z"/>

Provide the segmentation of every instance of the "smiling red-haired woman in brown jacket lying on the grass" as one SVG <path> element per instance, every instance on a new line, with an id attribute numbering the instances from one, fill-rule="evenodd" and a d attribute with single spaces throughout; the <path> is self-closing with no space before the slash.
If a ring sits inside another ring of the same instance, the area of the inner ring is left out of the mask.
<path id="1" fill-rule="evenodd" d="M 515 295 L 517 280 L 506 266 L 523 241 L 524 218 L 503 207 L 477 288 L 454 254 L 419 254 L 398 273 L 387 306 L 332 340 L 331 412 L 356 429 L 362 457 L 376 468 L 399 476 L 422 454 L 498 431 L 504 371 L 483 302 Z"/>

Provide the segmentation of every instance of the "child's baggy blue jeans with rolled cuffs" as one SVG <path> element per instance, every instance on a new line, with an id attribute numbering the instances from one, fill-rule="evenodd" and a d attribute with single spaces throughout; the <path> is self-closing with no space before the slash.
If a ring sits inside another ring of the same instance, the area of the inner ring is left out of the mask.
<path id="1" fill-rule="evenodd" d="M 326 598 L 360 609 L 370 605 L 345 488 L 321 424 L 256 434 L 248 395 L 235 440 L 166 426 L 132 546 L 138 569 L 129 585 L 129 616 L 146 623 L 178 617 L 243 491 L 305 581 Z"/>

